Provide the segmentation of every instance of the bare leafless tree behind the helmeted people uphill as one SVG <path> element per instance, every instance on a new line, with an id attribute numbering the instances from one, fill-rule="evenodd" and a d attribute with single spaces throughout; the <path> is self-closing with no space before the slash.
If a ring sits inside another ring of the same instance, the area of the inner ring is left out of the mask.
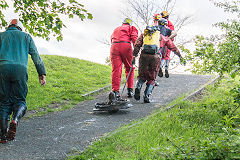
<path id="1" fill-rule="evenodd" d="M 179 31 L 183 26 L 192 22 L 192 16 L 175 16 L 176 0 L 126 0 L 126 9 L 122 14 L 133 19 L 134 24 L 142 32 L 147 25 L 153 23 L 153 16 L 161 11 L 168 11 L 173 19 L 175 30 Z"/>

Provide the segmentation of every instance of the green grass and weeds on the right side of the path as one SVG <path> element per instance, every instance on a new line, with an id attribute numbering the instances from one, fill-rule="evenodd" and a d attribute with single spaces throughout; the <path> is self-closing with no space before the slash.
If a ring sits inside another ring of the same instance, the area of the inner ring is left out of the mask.
<path id="1" fill-rule="evenodd" d="M 240 91 L 234 87 L 240 87 L 239 78 L 223 80 L 201 100 L 179 100 L 171 110 L 123 126 L 69 159 L 240 159 L 240 109 L 234 112 Z"/>

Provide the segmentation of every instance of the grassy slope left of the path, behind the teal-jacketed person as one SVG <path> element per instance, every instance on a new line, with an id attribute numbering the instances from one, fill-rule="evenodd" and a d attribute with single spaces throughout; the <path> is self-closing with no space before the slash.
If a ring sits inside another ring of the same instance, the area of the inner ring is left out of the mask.
<path id="1" fill-rule="evenodd" d="M 83 94 L 111 83 L 111 67 L 77 58 L 42 55 L 46 67 L 46 86 L 38 83 L 38 75 L 29 57 L 28 110 L 54 111 L 68 108 L 84 98 Z"/>

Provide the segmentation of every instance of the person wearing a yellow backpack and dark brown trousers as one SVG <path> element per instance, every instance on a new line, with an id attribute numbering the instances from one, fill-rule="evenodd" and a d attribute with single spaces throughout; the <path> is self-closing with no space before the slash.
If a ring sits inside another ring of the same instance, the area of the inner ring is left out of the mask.
<path id="1" fill-rule="evenodd" d="M 143 50 L 141 51 L 139 58 L 139 76 L 135 88 L 134 98 L 136 100 L 140 100 L 142 85 L 147 81 L 147 87 L 144 91 L 143 98 L 144 103 L 150 103 L 149 96 L 154 88 L 155 80 L 161 64 L 159 50 L 167 46 L 167 48 L 178 55 L 180 59 L 182 59 L 182 56 L 174 43 L 169 38 L 160 34 L 157 26 L 147 26 L 144 33 L 137 39 L 133 50 L 134 58 L 138 56 L 138 52 L 142 46 Z"/>

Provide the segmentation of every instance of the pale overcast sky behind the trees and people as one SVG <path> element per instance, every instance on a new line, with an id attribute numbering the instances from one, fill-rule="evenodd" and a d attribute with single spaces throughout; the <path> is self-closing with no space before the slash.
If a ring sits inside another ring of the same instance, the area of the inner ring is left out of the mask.
<path id="1" fill-rule="evenodd" d="M 124 7 L 124 3 L 121 0 L 87 0 L 84 2 L 85 8 L 93 14 L 93 20 L 82 22 L 79 19 L 66 19 L 67 28 L 63 29 L 64 40 L 61 42 L 54 39 L 45 41 L 41 38 L 34 38 L 40 54 L 56 54 L 105 63 L 105 59 L 109 56 L 110 46 L 98 40 L 110 39 L 113 30 L 121 25 L 124 17 L 120 9 Z M 212 27 L 212 24 L 229 18 L 223 9 L 215 7 L 209 0 L 176 0 L 176 2 L 177 14 L 194 17 L 194 23 L 182 29 L 179 35 L 184 34 L 191 38 L 199 34 L 208 36 L 220 33 L 220 30 Z M 12 18 L 12 13 L 10 15 L 7 17 L 9 20 Z"/>

